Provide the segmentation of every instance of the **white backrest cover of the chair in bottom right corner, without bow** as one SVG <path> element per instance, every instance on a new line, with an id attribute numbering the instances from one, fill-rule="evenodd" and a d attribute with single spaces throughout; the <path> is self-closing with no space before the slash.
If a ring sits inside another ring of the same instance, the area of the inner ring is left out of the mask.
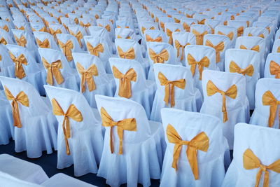
<path id="1" fill-rule="evenodd" d="M 248 125 L 246 123 L 238 123 L 235 125 L 235 144 L 233 158 L 238 177 L 235 181 L 235 186 L 254 186 L 256 183 L 256 175 L 258 169 L 244 168 L 244 152 L 250 149 L 255 157 L 258 158 L 261 165 L 269 166 L 280 158 L 280 131 L 267 127 Z M 254 159 L 255 160 L 255 159 Z M 250 160 L 251 161 L 251 160 Z M 252 164 L 254 164 L 252 158 Z M 257 163 L 255 163 L 257 166 Z M 269 172 L 269 186 L 278 186 L 280 182 L 279 174 L 267 169 Z M 260 183 L 263 183 L 263 177 Z"/>

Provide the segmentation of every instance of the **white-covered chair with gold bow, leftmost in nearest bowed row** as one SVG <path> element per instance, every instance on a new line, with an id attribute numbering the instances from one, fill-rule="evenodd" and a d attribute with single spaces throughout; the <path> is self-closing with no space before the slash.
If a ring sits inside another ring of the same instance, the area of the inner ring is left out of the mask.
<path id="1" fill-rule="evenodd" d="M 25 81 L 6 77 L 0 81 L 12 108 L 15 152 L 27 151 L 27 157 L 38 158 L 43 151 L 56 150 L 57 121 L 47 100 Z"/>

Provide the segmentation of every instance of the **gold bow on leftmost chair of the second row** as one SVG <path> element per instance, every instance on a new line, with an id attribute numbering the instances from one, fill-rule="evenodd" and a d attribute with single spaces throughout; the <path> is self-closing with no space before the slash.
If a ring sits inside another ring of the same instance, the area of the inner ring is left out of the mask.
<path id="1" fill-rule="evenodd" d="M 15 77 L 16 78 L 24 78 L 26 76 L 25 69 L 23 69 L 22 64 L 27 66 L 27 60 L 25 58 L 25 55 L 20 54 L 18 57 L 15 57 L 12 53 L 10 54 L 10 58 L 15 63 Z"/>

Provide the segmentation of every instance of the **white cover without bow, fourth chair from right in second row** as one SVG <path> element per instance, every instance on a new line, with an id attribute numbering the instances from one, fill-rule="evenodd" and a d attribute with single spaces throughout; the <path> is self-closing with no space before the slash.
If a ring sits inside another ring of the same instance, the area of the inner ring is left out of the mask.
<path id="1" fill-rule="evenodd" d="M 132 99 L 135 102 L 141 104 L 148 118 L 151 115 L 151 109 L 153 106 L 153 100 L 155 97 L 156 85 L 154 81 L 146 80 L 146 74 L 139 62 L 136 60 L 129 60 L 123 58 L 110 58 L 109 62 L 111 64 L 111 69 L 113 71 L 113 67 L 116 67 L 118 71 L 122 74 L 126 74 L 127 71 L 133 69 L 137 74 L 136 81 L 130 81 L 131 84 L 131 97 L 127 99 Z M 113 71 L 114 74 L 114 71 Z M 115 77 L 115 82 L 117 85 L 115 97 L 122 97 L 119 95 L 120 89 L 120 78 Z"/>

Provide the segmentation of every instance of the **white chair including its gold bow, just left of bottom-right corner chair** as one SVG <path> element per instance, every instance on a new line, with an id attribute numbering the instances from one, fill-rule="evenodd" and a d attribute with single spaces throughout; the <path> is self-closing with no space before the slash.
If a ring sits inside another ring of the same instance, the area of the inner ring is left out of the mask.
<path id="1" fill-rule="evenodd" d="M 167 150 L 160 186 L 221 186 L 230 160 L 221 120 L 177 109 L 161 114 Z"/>

